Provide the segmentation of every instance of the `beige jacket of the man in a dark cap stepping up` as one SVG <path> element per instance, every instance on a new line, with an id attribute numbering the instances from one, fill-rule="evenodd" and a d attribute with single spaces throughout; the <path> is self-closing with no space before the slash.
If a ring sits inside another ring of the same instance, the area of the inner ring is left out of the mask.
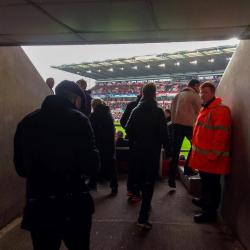
<path id="1" fill-rule="evenodd" d="M 184 88 L 172 101 L 172 124 L 193 127 L 200 112 L 201 104 L 202 100 L 193 88 Z"/>

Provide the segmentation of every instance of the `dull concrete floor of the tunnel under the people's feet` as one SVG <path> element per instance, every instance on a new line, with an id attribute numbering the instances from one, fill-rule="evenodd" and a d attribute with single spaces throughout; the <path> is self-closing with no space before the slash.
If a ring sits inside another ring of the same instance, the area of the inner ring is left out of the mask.
<path id="1" fill-rule="evenodd" d="M 166 181 L 156 183 L 152 201 L 151 230 L 136 226 L 141 202 L 128 202 L 126 176 L 119 176 L 119 193 L 110 195 L 108 183 L 92 191 L 96 212 L 91 231 L 92 250 L 233 250 L 242 249 L 221 220 L 196 224 L 193 216 L 200 212 L 180 181 L 171 190 Z M 29 232 L 16 225 L 0 238 L 1 250 L 30 250 Z M 0 233 L 1 235 L 1 233 Z M 66 250 L 62 243 L 60 250 Z"/>

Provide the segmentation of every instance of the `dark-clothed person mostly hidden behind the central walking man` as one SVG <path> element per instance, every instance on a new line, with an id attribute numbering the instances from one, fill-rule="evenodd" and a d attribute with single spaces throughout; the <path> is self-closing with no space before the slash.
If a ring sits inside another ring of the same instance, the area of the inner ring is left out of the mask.
<path id="1" fill-rule="evenodd" d="M 120 123 L 122 127 L 125 129 L 128 119 L 131 115 L 133 109 L 138 105 L 142 97 L 142 88 L 140 88 L 140 94 L 137 96 L 137 100 L 130 102 L 125 109 Z M 129 138 L 129 137 L 128 137 Z M 128 181 L 127 181 L 127 196 L 133 196 L 133 189 L 134 189 L 134 178 L 135 178 L 135 150 L 134 145 L 131 141 L 129 141 L 129 174 L 128 174 Z M 132 199 L 136 200 L 138 197 L 134 197 Z"/>

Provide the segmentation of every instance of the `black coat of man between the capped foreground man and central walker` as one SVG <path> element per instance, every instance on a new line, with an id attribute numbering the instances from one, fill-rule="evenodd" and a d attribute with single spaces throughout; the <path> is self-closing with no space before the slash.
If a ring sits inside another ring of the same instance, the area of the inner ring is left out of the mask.
<path id="1" fill-rule="evenodd" d="M 100 104 L 91 114 L 90 123 L 95 133 L 96 147 L 100 156 L 104 154 L 115 154 L 115 128 L 114 120 L 109 107 Z"/>

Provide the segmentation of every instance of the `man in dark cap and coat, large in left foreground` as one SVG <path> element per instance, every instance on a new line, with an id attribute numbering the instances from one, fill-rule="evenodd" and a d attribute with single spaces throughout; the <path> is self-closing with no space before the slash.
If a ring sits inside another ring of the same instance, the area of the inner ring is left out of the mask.
<path id="1" fill-rule="evenodd" d="M 29 230 L 34 250 L 89 249 L 94 203 L 84 175 L 95 175 L 98 150 L 88 118 L 78 109 L 84 93 L 70 81 L 17 126 L 14 164 L 26 178 L 22 229 Z"/>

